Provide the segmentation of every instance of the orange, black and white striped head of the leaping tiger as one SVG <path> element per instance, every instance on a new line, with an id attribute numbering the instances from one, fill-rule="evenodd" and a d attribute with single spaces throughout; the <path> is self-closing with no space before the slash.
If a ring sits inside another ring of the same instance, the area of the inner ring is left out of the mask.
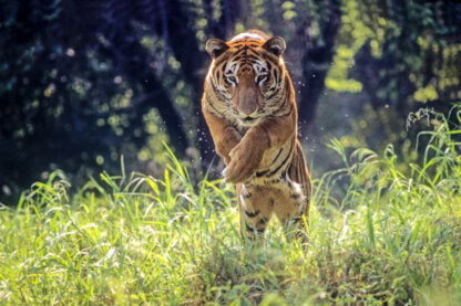
<path id="1" fill-rule="evenodd" d="M 211 39 L 207 80 L 216 97 L 243 126 L 275 113 L 285 84 L 284 39 L 243 33 L 228 42 Z"/>

